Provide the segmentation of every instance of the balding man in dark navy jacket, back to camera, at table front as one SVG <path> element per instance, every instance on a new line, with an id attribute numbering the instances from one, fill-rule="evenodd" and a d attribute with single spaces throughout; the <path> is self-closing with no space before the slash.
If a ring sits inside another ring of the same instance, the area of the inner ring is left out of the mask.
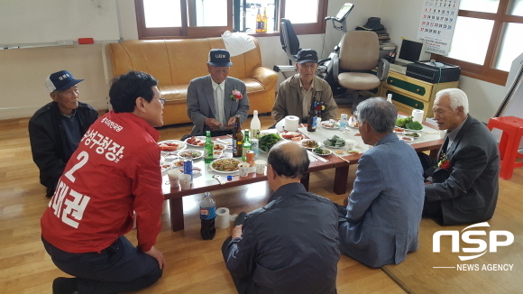
<path id="1" fill-rule="evenodd" d="M 222 247 L 238 293 L 336 293 L 335 204 L 299 182 L 309 161 L 297 142 L 276 144 L 267 161 L 269 204 L 235 222 Z"/>

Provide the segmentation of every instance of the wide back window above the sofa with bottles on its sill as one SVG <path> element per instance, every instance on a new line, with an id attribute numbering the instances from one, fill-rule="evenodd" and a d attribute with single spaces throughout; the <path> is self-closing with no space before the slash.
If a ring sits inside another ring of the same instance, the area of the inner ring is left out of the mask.
<path id="1" fill-rule="evenodd" d="M 278 32 L 281 18 L 298 34 L 322 33 L 328 0 L 135 0 L 135 5 L 140 39 L 157 39 L 256 33 L 258 13 L 267 18 L 263 34 Z"/>

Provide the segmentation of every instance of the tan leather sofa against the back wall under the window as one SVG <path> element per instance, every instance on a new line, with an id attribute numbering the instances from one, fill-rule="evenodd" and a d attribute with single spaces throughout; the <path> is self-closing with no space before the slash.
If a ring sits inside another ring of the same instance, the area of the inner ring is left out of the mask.
<path id="1" fill-rule="evenodd" d="M 229 77 L 240 78 L 247 87 L 249 114 L 254 110 L 269 113 L 274 105 L 278 74 L 261 66 L 256 48 L 231 58 Z M 129 69 L 147 72 L 159 80 L 166 99 L 164 124 L 190 123 L 187 115 L 187 88 L 191 79 L 208 74 L 206 62 L 211 49 L 225 48 L 222 38 L 183 40 L 138 40 L 110 44 L 115 76 Z"/>

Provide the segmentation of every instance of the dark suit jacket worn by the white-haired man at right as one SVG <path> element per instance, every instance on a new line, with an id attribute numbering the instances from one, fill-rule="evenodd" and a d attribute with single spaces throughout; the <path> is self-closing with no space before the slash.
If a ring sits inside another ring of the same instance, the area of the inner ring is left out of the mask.
<path id="1" fill-rule="evenodd" d="M 498 142 L 491 131 L 469 115 L 446 155 L 451 164 L 448 179 L 426 185 L 425 201 L 440 201 L 442 225 L 489 220 L 498 201 L 500 175 Z"/>

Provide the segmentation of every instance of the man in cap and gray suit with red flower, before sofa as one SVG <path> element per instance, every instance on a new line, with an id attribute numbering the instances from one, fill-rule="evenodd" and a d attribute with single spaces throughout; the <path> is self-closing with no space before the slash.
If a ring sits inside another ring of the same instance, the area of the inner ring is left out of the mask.
<path id="1" fill-rule="evenodd" d="M 191 136 L 212 136 L 233 133 L 234 116 L 243 124 L 249 113 L 245 84 L 238 78 L 227 77 L 233 65 L 228 51 L 209 51 L 208 76 L 190 81 L 187 92 L 188 117 L 194 124 Z"/>

